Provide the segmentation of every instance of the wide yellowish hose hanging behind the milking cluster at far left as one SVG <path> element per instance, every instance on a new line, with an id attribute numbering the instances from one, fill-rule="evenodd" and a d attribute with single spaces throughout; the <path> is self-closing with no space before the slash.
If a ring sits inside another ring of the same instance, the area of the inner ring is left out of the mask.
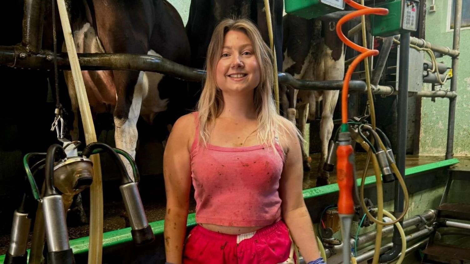
<path id="1" fill-rule="evenodd" d="M 57 0 L 60 20 L 62 23 L 65 45 L 70 60 L 70 67 L 73 76 L 73 83 L 77 93 L 78 106 L 82 117 L 83 130 L 85 132 L 86 144 L 96 142 L 94 124 L 91 116 L 90 104 L 86 97 L 85 84 L 78 63 L 77 50 L 73 41 L 72 30 L 70 28 L 69 16 L 65 7 L 65 0 Z M 93 162 L 93 183 L 90 186 L 90 241 L 88 251 L 88 264 L 102 263 L 103 250 L 103 187 L 101 177 L 100 156 L 91 155 Z"/>

